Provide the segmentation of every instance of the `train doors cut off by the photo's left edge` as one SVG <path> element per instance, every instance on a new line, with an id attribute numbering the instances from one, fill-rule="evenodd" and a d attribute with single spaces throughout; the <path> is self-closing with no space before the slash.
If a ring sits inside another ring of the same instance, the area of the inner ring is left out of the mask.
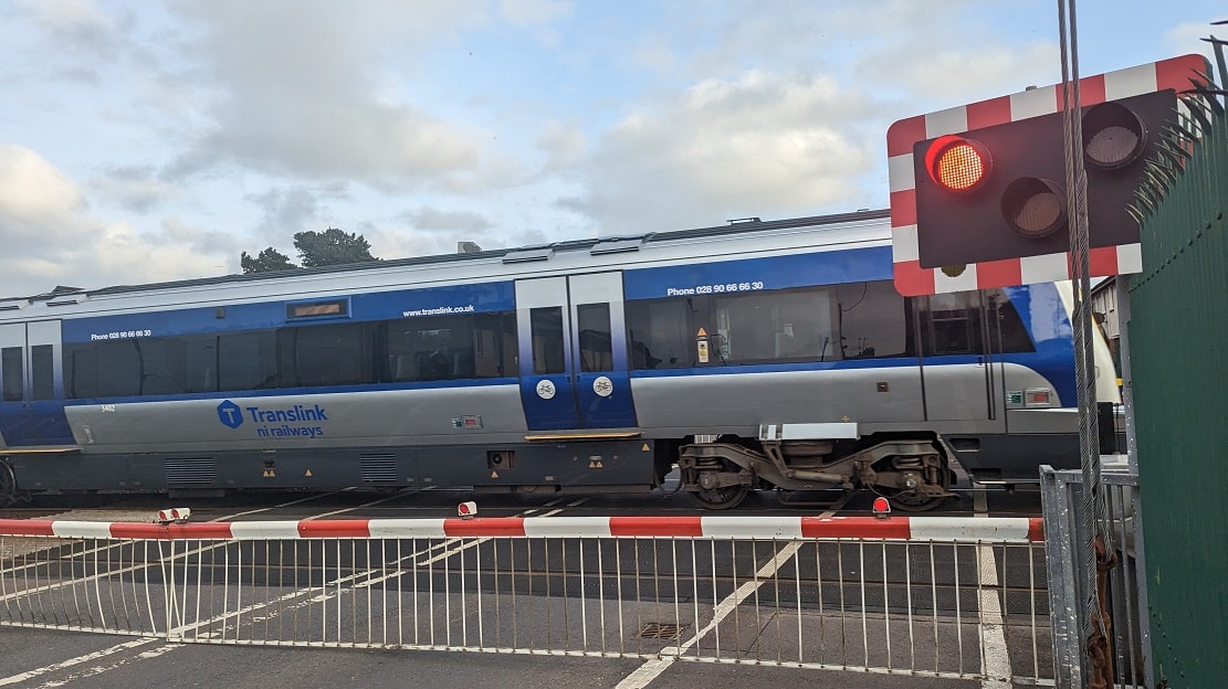
<path id="1" fill-rule="evenodd" d="M 0 434 L 10 447 L 71 445 L 64 417 L 60 321 L 0 326 Z"/>

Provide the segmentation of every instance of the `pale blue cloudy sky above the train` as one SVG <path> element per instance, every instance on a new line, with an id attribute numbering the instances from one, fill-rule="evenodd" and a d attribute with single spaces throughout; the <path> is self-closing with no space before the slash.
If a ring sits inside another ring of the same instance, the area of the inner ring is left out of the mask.
<path id="1" fill-rule="evenodd" d="M 1060 80 L 1056 2 L 0 0 L 0 297 L 882 208 L 894 120 Z M 1084 75 L 1222 0 L 1078 2 Z"/>

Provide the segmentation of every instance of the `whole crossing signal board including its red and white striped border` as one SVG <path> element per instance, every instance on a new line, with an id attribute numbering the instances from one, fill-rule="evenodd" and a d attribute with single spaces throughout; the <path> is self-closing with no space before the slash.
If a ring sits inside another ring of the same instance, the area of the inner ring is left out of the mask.
<path id="1" fill-rule="evenodd" d="M 1210 64 L 1181 55 L 1079 78 L 1092 276 L 1142 271 L 1126 211 Z M 1061 86 L 896 120 L 887 130 L 895 288 L 914 297 L 1070 280 Z"/>

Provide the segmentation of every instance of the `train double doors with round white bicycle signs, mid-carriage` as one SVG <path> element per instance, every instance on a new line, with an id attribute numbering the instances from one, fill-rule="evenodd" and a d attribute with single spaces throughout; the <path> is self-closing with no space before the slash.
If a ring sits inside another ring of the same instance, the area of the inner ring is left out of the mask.
<path id="1" fill-rule="evenodd" d="M 621 272 L 519 280 L 516 309 L 529 430 L 636 425 Z"/>

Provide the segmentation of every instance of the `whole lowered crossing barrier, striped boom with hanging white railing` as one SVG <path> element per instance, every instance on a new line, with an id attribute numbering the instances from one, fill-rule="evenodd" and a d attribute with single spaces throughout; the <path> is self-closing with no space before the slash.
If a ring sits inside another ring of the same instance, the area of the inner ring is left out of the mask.
<path id="1" fill-rule="evenodd" d="M 0 625 L 1052 677 L 1040 520 L 0 520 Z"/>

